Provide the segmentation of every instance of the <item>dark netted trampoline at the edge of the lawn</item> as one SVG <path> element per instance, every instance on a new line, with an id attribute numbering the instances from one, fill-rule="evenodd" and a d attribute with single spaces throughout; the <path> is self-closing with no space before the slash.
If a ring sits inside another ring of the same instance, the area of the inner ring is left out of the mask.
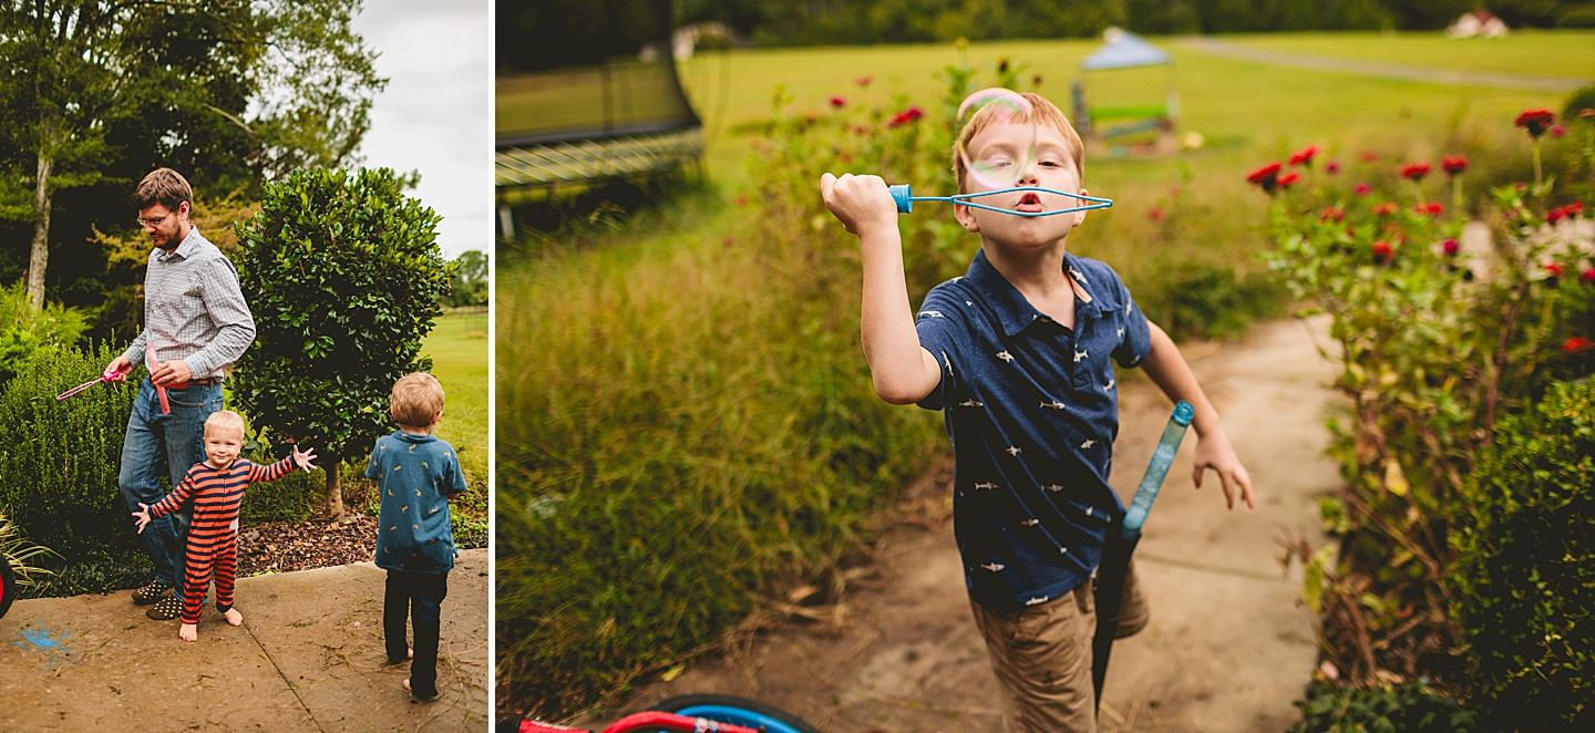
<path id="1" fill-rule="evenodd" d="M 665 175 L 697 161 L 702 121 L 671 54 L 670 3 L 654 3 L 646 38 L 606 46 L 601 59 L 496 78 L 494 198 L 499 236 L 515 234 L 515 207 L 617 182 Z M 522 38 L 560 29 L 536 25 Z M 569 43 L 571 38 L 558 40 Z"/>

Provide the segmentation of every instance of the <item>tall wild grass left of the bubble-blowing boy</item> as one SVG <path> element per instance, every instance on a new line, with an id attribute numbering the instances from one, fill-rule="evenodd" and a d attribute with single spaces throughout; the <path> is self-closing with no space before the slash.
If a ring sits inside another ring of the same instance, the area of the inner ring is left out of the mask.
<path id="1" fill-rule="evenodd" d="M 573 711 L 719 642 L 922 465 L 936 421 L 871 392 L 845 269 L 801 233 L 679 233 L 499 272 L 509 709 Z"/>

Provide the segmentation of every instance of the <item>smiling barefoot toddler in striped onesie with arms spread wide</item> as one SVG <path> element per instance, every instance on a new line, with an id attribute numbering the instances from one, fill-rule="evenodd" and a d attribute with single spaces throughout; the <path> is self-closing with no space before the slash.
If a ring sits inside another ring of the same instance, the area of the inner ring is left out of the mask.
<path id="1" fill-rule="evenodd" d="M 139 502 L 139 534 L 152 519 L 177 512 L 193 499 L 193 524 L 188 527 L 188 543 L 183 550 L 182 602 L 177 636 L 183 641 L 199 639 L 199 609 L 204 606 L 211 577 L 215 575 L 215 609 L 226 623 L 238 626 L 244 615 L 233 607 L 233 585 L 238 574 L 238 508 L 244 502 L 244 489 L 252 483 L 276 481 L 295 467 L 311 470 L 316 451 L 293 453 L 271 465 L 238 457 L 244 449 L 244 417 L 231 410 L 211 413 L 204 421 L 206 459 L 188 468 L 182 483 L 164 499 L 150 505 Z"/>

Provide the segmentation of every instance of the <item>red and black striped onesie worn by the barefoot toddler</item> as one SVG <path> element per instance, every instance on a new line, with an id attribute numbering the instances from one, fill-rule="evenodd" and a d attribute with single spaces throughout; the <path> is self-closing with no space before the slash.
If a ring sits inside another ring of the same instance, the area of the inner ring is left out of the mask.
<path id="1" fill-rule="evenodd" d="M 177 512 L 191 496 L 195 518 L 188 526 L 188 567 L 183 570 L 183 623 L 199 623 L 204 591 L 215 570 L 215 607 L 226 613 L 233 607 L 233 580 L 238 574 L 238 507 L 244 488 L 258 481 L 276 481 L 293 472 L 293 456 L 271 465 L 234 459 L 226 468 L 195 464 L 183 481 L 150 507 L 150 518 Z"/>

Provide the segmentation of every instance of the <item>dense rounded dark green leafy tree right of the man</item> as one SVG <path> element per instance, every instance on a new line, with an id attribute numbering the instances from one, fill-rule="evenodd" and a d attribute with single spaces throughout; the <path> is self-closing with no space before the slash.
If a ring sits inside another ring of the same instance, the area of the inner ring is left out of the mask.
<path id="1" fill-rule="evenodd" d="M 329 515 L 343 513 L 340 465 L 392 430 L 392 384 L 432 365 L 421 338 L 455 277 L 440 220 L 389 169 L 316 169 L 268 183 L 238 228 L 255 346 L 238 362 L 233 400 L 257 433 L 316 449 Z"/>

